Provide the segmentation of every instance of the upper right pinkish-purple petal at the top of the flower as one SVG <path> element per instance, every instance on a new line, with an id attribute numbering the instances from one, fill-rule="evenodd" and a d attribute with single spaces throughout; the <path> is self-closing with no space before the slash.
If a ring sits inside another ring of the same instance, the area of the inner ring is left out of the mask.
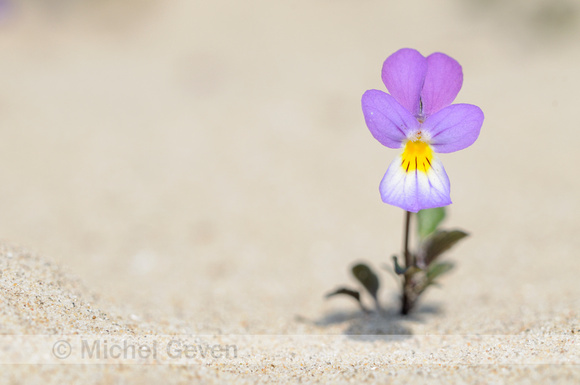
<path id="1" fill-rule="evenodd" d="M 433 115 L 447 107 L 463 84 L 463 71 L 455 59 L 435 52 L 427 57 L 427 75 L 421 91 L 423 114 Z"/>

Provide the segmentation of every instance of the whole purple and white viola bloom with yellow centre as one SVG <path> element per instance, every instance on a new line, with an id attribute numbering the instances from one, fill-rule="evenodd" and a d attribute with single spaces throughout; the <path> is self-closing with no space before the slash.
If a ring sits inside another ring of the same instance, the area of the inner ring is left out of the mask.
<path id="1" fill-rule="evenodd" d="M 483 124 L 479 107 L 450 105 L 463 83 L 461 66 L 439 52 L 424 57 L 403 48 L 385 60 L 382 79 L 390 95 L 364 93 L 365 122 L 382 145 L 403 149 L 379 186 L 383 202 L 411 212 L 451 204 L 449 178 L 435 154 L 471 146 Z"/>

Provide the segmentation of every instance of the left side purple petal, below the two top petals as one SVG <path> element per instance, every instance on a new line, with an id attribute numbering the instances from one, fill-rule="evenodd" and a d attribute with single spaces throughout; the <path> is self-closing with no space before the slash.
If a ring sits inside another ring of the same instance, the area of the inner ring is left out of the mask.
<path id="1" fill-rule="evenodd" d="M 362 97 L 367 127 L 376 140 L 389 148 L 400 148 L 409 130 L 417 130 L 419 122 L 389 94 L 368 90 Z"/>

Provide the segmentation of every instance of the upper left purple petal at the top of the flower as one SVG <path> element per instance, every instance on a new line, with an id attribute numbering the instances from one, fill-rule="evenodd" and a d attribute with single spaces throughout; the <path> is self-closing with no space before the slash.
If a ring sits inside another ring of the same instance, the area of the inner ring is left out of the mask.
<path id="1" fill-rule="evenodd" d="M 383 83 L 411 114 L 419 114 L 421 89 L 427 74 L 427 59 L 414 49 L 403 48 L 383 64 Z"/>

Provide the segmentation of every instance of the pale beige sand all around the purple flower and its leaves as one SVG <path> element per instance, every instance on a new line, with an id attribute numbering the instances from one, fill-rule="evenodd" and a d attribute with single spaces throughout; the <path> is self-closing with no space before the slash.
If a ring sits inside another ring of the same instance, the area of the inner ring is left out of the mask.
<path id="1" fill-rule="evenodd" d="M 1 24 L 3 383 L 580 381 L 575 2 L 38 4 Z M 386 273 L 383 316 L 323 299 L 400 249 L 360 96 L 404 46 L 486 114 L 406 318 Z"/>

